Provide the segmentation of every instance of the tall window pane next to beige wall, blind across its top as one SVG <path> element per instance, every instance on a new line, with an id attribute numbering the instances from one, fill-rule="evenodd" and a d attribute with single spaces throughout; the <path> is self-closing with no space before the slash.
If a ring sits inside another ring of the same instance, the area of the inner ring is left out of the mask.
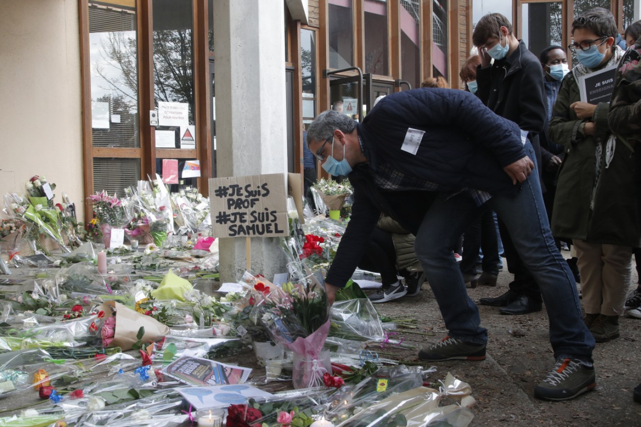
<path id="1" fill-rule="evenodd" d="M 136 148 L 136 8 L 108 4 L 88 2 L 92 141 L 94 147 Z"/>

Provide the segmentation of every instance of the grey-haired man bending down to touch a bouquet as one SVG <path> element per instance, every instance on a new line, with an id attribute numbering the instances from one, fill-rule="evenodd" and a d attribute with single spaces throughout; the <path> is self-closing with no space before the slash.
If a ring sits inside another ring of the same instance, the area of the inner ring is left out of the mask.
<path id="1" fill-rule="evenodd" d="M 594 337 L 581 318 L 572 273 L 554 246 L 534 150 L 518 125 L 469 92 L 425 88 L 388 95 L 362 124 L 325 111 L 310 125 L 307 143 L 326 172 L 347 175 L 354 187 L 351 221 L 326 277 L 330 302 L 362 259 L 383 212 L 416 236 L 416 255 L 449 330 L 421 350 L 420 359 L 485 359 L 487 329 L 452 248 L 484 209 L 494 209 L 538 278 L 554 319 L 557 362 L 535 396 L 569 399 L 594 388 Z"/>

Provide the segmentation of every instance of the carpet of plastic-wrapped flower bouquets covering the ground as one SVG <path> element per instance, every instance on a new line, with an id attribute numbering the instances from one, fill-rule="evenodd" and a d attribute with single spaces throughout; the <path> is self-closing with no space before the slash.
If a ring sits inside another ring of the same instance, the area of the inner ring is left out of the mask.
<path id="1" fill-rule="evenodd" d="M 195 425 L 197 408 L 162 372 L 184 356 L 239 366 L 255 356 L 251 385 L 289 389 L 234 401 L 228 426 L 469 424 L 469 385 L 447 376 L 424 387 L 428 371 L 390 356 L 409 348 L 405 337 L 358 285 L 329 307 L 323 276 L 344 222 L 309 207 L 299 217 L 290 199 L 280 239 L 288 279 L 246 271 L 225 284 L 233 291 L 219 292 L 208 198 L 195 188 L 171 193 L 155 178 L 92 195 L 87 231 L 41 175 L 4 196 L 0 401 L 39 404 L 0 414 L 0 427 Z M 319 187 L 341 199 L 351 191 L 347 182 Z M 124 229 L 124 245 L 107 247 L 113 228 Z"/>

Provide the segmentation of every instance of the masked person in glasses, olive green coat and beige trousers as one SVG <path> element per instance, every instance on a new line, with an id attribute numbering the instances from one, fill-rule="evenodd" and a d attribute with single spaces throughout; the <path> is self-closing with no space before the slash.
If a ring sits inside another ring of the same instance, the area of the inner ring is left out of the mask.
<path id="1" fill-rule="evenodd" d="M 576 65 L 563 79 L 554 104 L 549 137 L 563 145 L 565 160 L 554 197 L 552 232 L 571 238 L 576 247 L 585 323 L 595 340 L 604 342 L 619 336 L 632 248 L 641 239 L 638 199 L 633 197 L 633 154 L 610 132 L 608 102 L 594 106 L 581 102 L 579 95 L 579 76 L 616 65 L 624 53 L 613 45 L 613 19 L 612 35 L 609 26 L 603 32 L 574 24 L 575 44 L 601 43 L 597 46 L 603 59 L 590 68 Z"/>

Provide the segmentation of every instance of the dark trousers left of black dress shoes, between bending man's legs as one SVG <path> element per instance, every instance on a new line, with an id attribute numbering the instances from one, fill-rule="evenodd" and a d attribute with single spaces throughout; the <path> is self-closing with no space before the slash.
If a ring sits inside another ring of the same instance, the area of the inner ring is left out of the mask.
<path id="1" fill-rule="evenodd" d="M 476 274 L 479 248 L 483 249 L 483 271 L 499 274 L 499 242 L 492 211 L 485 211 L 463 235 L 463 261 L 460 264 L 463 273 Z"/>

